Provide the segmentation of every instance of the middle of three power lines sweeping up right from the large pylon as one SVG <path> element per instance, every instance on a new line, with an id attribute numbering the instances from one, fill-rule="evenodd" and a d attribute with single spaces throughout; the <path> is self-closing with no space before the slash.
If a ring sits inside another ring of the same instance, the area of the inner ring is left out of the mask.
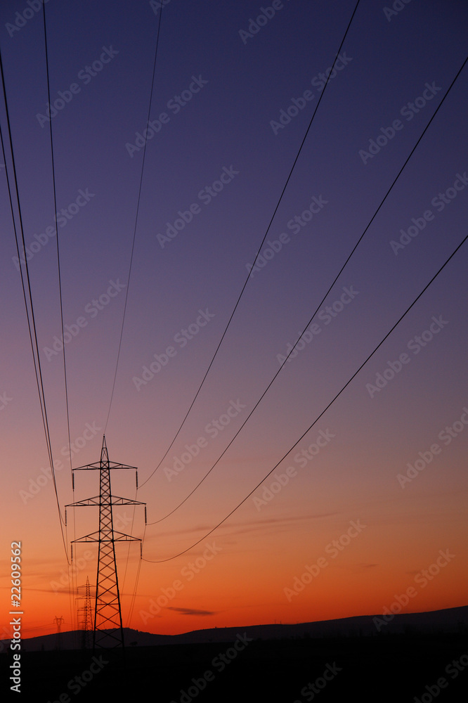
<path id="1" fill-rule="evenodd" d="M 176 508 L 174 508 L 173 510 L 171 510 L 170 512 L 168 512 L 167 515 L 164 515 L 164 517 L 161 517 L 160 520 L 155 520 L 155 522 L 148 522 L 149 525 L 154 525 L 154 524 L 157 524 L 158 522 L 162 522 L 163 520 L 166 520 L 166 518 L 169 517 L 169 515 L 172 515 L 174 512 L 176 512 L 176 510 L 178 510 L 178 508 L 181 508 L 181 506 L 182 506 L 186 501 L 188 501 L 188 498 L 190 498 L 190 496 L 192 496 L 192 495 L 195 493 L 195 491 L 199 488 L 199 486 L 201 486 L 201 484 L 204 482 L 204 479 L 206 479 L 206 478 L 209 476 L 209 474 L 212 472 L 212 470 L 213 470 L 214 467 L 217 465 L 217 463 L 219 462 L 219 460 L 221 460 L 221 458 L 224 456 L 224 454 L 226 453 L 226 451 L 228 451 L 230 445 L 233 444 L 233 441 L 236 439 L 236 437 L 238 437 L 238 434 L 240 434 L 242 428 L 245 427 L 245 425 L 246 425 L 246 423 L 248 422 L 249 418 L 251 418 L 251 416 L 253 415 L 254 411 L 256 410 L 256 408 L 257 408 L 257 407 L 259 406 L 259 404 L 261 403 L 262 399 L 264 399 L 264 396 L 266 395 L 266 393 L 268 392 L 268 390 L 270 389 L 270 387 L 273 385 L 273 382 L 274 382 L 275 379 L 278 377 L 278 375 L 279 375 L 280 371 L 282 370 L 283 366 L 285 366 L 285 363 L 286 363 L 287 360 L 290 358 L 290 355 L 291 355 L 292 352 L 294 351 L 294 347 L 295 347 L 296 344 L 299 342 L 299 340 L 301 339 L 302 335 L 304 335 L 306 329 L 308 328 L 308 326 L 309 326 L 309 325 L 311 324 L 311 322 L 313 321 L 313 318 L 316 316 L 316 314 L 317 314 L 318 311 L 320 310 L 320 307 L 322 307 L 323 302 L 325 302 L 325 299 L 327 298 L 327 295 L 329 295 L 329 293 L 330 293 L 330 291 L 332 290 L 334 284 L 337 282 L 339 276 L 341 276 L 341 274 L 343 273 L 344 269 L 346 268 L 347 264 L 349 263 L 349 261 L 350 261 L 351 257 L 353 256 L 354 252 L 356 252 L 356 249 L 358 248 L 360 242 L 363 240 L 363 237 L 365 236 L 365 233 L 366 233 L 366 232 L 368 231 L 368 229 L 370 228 L 372 222 L 375 220 L 375 217 L 377 217 L 377 214 L 378 214 L 379 210 L 381 209 L 382 205 L 384 205 L 384 202 L 385 202 L 386 198 L 388 198 L 388 196 L 389 196 L 389 194 L 390 194 L 392 188 L 394 188 L 394 185 L 395 185 L 396 181 L 398 181 L 398 178 L 401 176 L 401 174 L 402 174 L 402 172 L 403 172 L 403 169 L 405 169 L 406 165 L 408 164 L 408 161 L 410 160 L 410 158 L 412 157 L 413 153 L 415 152 L 415 150 L 416 150 L 417 146 L 419 145 L 420 141 L 422 140 L 424 134 L 426 134 L 427 129 L 429 129 L 429 125 L 431 124 L 432 120 L 434 120 L 434 117 L 436 117 L 438 110 L 440 110 L 440 108 L 441 108 L 441 106 L 442 106 L 442 104 L 443 104 L 443 101 L 445 101 L 446 97 L 448 96 L 448 93 L 450 92 L 450 89 L 451 89 L 451 88 L 453 87 L 453 85 L 455 84 L 455 81 L 457 80 L 457 77 L 458 77 L 458 76 L 460 75 L 460 73 L 462 72 L 462 70 L 463 70 L 463 68 L 464 68 L 464 65 L 467 63 L 467 61 L 468 61 L 468 58 L 464 60 L 462 66 L 460 67 L 460 70 L 458 70 L 458 72 L 457 72 L 457 75 L 455 75 L 455 78 L 454 78 L 453 81 L 450 83 L 450 86 L 448 87 L 448 89 L 447 89 L 445 95 L 443 96 L 443 98 L 441 99 L 441 102 L 438 104 L 436 110 L 434 111 L 434 115 L 432 115 L 432 117 L 431 117 L 431 119 L 429 120 L 429 122 L 427 123 L 426 127 L 424 127 L 420 138 L 418 138 L 417 142 L 415 143 L 415 146 L 413 146 L 413 148 L 412 148 L 412 150 L 410 151 L 410 154 L 408 155 L 407 159 L 405 160 L 403 166 L 402 166 L 401 169 L 398 171 L 398 174 L 397 174 L 396 177 L 394 178 L 394 181 L 392 181 L 391 186 L 389 187 L 389 189 L 386 191 L 386 193 L 385 193 L 385 195 L 384 195 L 384 198 L 382 198 L 382 201 L 380 202 L 379 207 L 377 207 L 377 209 L 375 210 L 375 213 L 372 215 L 370 221 L 368 222 L 368 225 L 366 226 L 366 228 L 365 228 L 365 230 L 363 231 L 363 233 L 361 234 L 360 238 L 358 239 L 358 241 L 357 241 L 356 244 L 354 245 L 353 249 L 351 250 L 351 253 L 350 253 L 349 256 L 347 257 L 347 259 L 346 259 L 346 261 L 344 262 L 344 264 L 342 265 L 341 269 L 339 269 L 337 275 L 335 276 L 334 280 L 332 281 L 332 283 L 331 283 L 331 285 L 330 285 L 330 288 L 328 288 L 327 292 L 325 293 L 325 295 L 324 295 L 323 298 L 321 299 L 320 303 L 319 303 L 318 306 L 316 307 L 316 310 L 313 312 L 313 314 L 312 314 L 310 320 L 308 321 L 308 323 L 307 323 L 306 326 L 304 327 L 304 330 L 302 330 L 302 332 L 299 334 L 299 337 L 297 337 L 297 340 L 296 340 L 296 342 L 294 342 L 294 344 L 292 345 L 292 347 L 291 347 L 291 349 L 290 349 L 290 352 L 289 352 L 289 353 L 287 354 L 287 356 L 285 357 L 285 360 L 282 361 L 280 368 L 278 368 L 277 372 L 275 373 L 275 375 L 273 376 L 273 378 L 271 379 L 271 381 L 268 383 L 268 386 L 266 387 L 266 389 L 264 390 L 264 392 L 261 394 L 259 400 L 256 402 L 256 404 L 255 404 L 254 407 L 252 408 L 252 411 L 250 411 L 249 415 L 247 415 L 247 418 L 245 418 L 245 420 L 244 420 L 244 422 L 242 423 L 242 425 L 240 425 L 240 427 L 239 427 L 238 431 L 235 433 L 233 439 L 230 440 L 228 446 L 226 446 L 226 449 L 224 449 L 224 451 L 223 451 L 223 452 L 220 454 L 220 456 L 216 459 L 215 463 L 212 465 L 212 467 L 209 469 L 209 471 L 204 475 L 204 477 L 200 480 L 200 482 L 197 483 L 197 485 L 195 486 L 195 488 L 194 488 L 192 491 L 190 491 L 190 493 L 188 494 L 188 496 L 186 496 L 186 498 L 184 498 L 183 501 L 181 501 L 181 503 L 179 503 L 178 505 L 176 505 Z M 169 449 L 170 449 L 170 447 L 169 447 Z M 169 451 L 169 450 L 168 450 L 168 451 Z M 166 452 L 166 454 L 167 454 L 167 452 Z M 164 456 L 166 456 L 166 455 L 164 455 Z M 161 463 L 162 463 L 163 460 L 164 460 L 164 457 L 162 458 Z M 156 467 L 155 471 L 156 471 L 156 470 L 157 470 L 157 467 Z M 153 471 L 153 473 L 154 473 L 154 471 Z M 147 479 L 147 481 L 148 481 L 148 480 L 149 480 L 149 479 Z M 144 484 L 142 484 L 142 486 L 144 486 Z"/>

